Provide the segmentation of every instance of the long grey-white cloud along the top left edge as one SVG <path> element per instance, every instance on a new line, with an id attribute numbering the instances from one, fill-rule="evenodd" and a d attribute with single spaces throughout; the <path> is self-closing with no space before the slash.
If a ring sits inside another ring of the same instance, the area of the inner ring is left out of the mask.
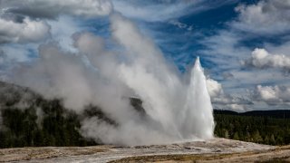
<path id="1" fill-rule="evenodd" d="M 111 13 L 109 0 L 1 0 L 5 12 L 37 18 L 56 18 L 62 14 L 95 17 Z"/>

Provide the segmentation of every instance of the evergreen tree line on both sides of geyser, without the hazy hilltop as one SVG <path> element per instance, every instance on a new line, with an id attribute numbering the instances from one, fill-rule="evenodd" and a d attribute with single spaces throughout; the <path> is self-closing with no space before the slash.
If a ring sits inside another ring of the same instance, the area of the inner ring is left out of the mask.
<path id="1" fill-rule="evenodd" d="M 117 125 L 92 106 L 80 116 L 63 109 L 58 100 L 38 102 L 43 107 L 43 117 L 38 123 L 36 108 L 1 110 L 0 148 L 98 145 L 102 144 L 101 140 L 85 139 L 80 134 L 82 118 L 98 116 L 111 125 Z M 215 111 L 214 117 L 216 137 L 269 145 L 290 144 L 290 119 L 230 115 L 222 111 Z"/>

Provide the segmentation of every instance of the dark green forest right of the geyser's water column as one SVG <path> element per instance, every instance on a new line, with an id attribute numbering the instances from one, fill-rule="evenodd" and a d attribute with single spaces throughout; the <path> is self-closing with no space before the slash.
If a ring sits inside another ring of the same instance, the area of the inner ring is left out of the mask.
<path id="1" fill-rule="evenodd" d="M 290 110 L 215 110 L 215 135 L 269 145 L 290 144 Z"/>

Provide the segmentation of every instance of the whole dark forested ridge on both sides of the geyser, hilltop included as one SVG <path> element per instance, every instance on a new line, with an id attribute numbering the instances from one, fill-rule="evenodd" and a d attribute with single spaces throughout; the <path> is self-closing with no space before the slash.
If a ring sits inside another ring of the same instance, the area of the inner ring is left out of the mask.
<path id="1" fill-rule="evenodd" d="M 131 98 L 131 105 L 145 116 L 140 100 Z M 81 121 L 88 117 L 118 127 L 97 106 L 88 105 L 76 114 L 65 109 L 61 100 L 45 100 L 34 91 L 5 82 L 0 82 L 0 114 L 0 148 L 102 144 L 100 139 L 82 137 Z M 289 115 L 290 110 L 215 110 L 215 135 L 270 145 L 290 144 Z"/>

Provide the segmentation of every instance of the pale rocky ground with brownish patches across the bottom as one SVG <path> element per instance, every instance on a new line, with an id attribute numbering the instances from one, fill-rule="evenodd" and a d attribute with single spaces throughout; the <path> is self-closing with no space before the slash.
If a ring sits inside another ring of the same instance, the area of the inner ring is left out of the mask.
<path id="1" fill-rule="evenodd" d="M 0 149 L 0 162 L 290 162 L 290 146 L 231 140 L 135 147 L 44 147 Z"/>

